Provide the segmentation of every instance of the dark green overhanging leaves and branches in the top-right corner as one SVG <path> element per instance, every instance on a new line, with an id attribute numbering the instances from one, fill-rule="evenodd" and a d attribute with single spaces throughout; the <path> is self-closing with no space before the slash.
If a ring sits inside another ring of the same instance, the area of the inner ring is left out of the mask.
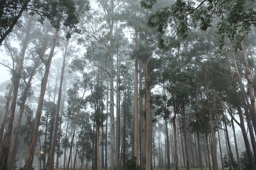
<path id="1" fill-rule="evenodd" d="M 142 0 L 141 6 L 152 9 L 158 0 Z M 165 48 L 165 33 L 171 27 L 174 34 L 184 38 L 190 29 L 206 31 L 218 17 L 218 31 L 222 35 L 220 47 L 224 45 L 225 33 L 236 39 L 235 49 L 241 49 L 240 42 L 252 25 L 256 25 L 256 10 L 252 0 L 176 0 L 169 6 L 155 10 L 148 18 L 148 26 L 156 27 L 158 44 Z M 238 29 L 239 27 L 239 29 Z"/>

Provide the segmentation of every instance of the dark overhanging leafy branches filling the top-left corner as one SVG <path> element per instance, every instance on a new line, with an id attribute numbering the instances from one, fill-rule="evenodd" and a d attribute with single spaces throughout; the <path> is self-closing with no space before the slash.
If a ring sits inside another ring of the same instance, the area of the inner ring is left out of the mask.
<path id="1" fill-rule="evenodd" d="M 88 0 L 30 0 L 25 5 L 25 0 L 5 0 L 1 1 L 0 10 L 0 37 L 2 37 L 13 24 L 18 27 L 21 26 L 20 22 L 14 23 L 17 15 L 21 9 L 25 9 L 30 15 L 37 14 L 38 21 L 42 24 L 47 19 L 50 24 L 56 29 L 63 29 L 65 31 L 66 39 L 70 39 L 73 32 L 80 33 L 77 28 L 79 23 L 79 12 L 86 12 L 89 10 Z M 81 10 L 82 9 L 82 10 Z"/>

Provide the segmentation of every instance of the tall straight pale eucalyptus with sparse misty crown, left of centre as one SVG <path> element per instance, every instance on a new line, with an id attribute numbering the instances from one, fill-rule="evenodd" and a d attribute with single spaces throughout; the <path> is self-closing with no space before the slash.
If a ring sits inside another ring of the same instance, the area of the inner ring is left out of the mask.
<path id="1" fill-rule="evenodd" d="M 114 123 L 114 23 L 115 13 L 117 6 L 120 5 L 120 2 L 116 0 L 98 0 L 99 6 L 95 11 L 88 15 L 88 19 L 93 23 L 87 22 L 83 26 L 83 31 L 87 35 L 87 38 L 90 37 L 93 41 L 88 41 L 87 50 L 90 49 L 87 53 L 87 59 L 93 57 L 93 51 L 97 48 L 102 48 L 105 51 L 104 60 L 109 62 L 109 68 L 102 68 L 106 74 L 110 77 L 110 157 L 111 157 L 111 168 L 113 170 L 118 169 L 117 162 L 117 151 L 116 151 L 116 138 L 115 138 L 115 123 Z M 99 16 L 99 17 L 98 17 Z M 90 40 L 88 39 L 88 40 Z M 96 61 L 98 62 L 98 60 Z M 96 63 L 91 62 L 92 65 L 97 66 Z"/>

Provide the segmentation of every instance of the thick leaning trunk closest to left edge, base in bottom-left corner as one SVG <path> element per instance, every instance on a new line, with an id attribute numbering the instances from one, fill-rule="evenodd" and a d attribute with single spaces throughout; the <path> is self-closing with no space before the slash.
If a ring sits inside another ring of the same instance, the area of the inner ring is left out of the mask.
<path id="1" fill-rule="evenodd" d="M 8 124 L 7 124 L 7 128 L 6 128 L 6 132 L 4 134 L 4 141 L 3 141 L 2 147 L 1 147 L 1 154 L 0 154 L 0 160 L 2 161 L 2 164 L 0 165 L 1 170 L 7 169 L 7 166 L 8 166 L 7 161 L 8 161 L 8 153 L 9 153 L 10 141 L 11 141 L 11 136 L 12 136 L 14 113 L 16 110 L 16 100 L 18 97 L 20 76 L 21 76 L 21 73 L 23 70 L 23 62 L 24 62 L 24 58 L 25 58 L 26 49 L 28 47 L 28 37 L 29 37 L 31 26 L 32 26 L 32 18 L 29 19 L 26 35 L 25 35 L 24 41 L 22 42 L 22 51 L 20 54 L 20 60 L 18 61 L 16 70 L 14 71 L 13 76 L 12 76 L 12 82 L 14 84 L 14 89 L 12 92 L 12 102 L 11 102 L 11 106 L 10 106 L 9 120 L 8 120 Z M 0 44 L 1 43 L 2 43 L 2 41 L 0 41 Z"/>

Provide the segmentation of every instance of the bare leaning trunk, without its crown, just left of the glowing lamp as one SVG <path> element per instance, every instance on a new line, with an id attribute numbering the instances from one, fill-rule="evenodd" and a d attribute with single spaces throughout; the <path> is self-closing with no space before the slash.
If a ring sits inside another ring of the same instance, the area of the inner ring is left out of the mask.
<path id="1" fill-rule="evenodd" d="M 45 68 L 45 72 L 44 72 L 44 77 L 42 79 L 40 97 L 39 97 L 39 100 L 38 100 L 38 107 L 37 107 L 37 110 L 36 110 L 36 118 L 35 118 L 35 122 L 34 122 L 34 125 L 33 125 L 32 137 L 31 137 L 31 140 L 30 140 L 29 148 L 28 148 L 28 154 L 27 154 L 27 157 L 26 157 L 24 170 L 31 170 L 32 169 L 32 163 L 33 163 L 34 152 L 35 152 L 35 147 L 36 147 L 36 139 L 37 139 L 37 135 L 38 135 L 38 128 L 39 128 L 39 125 L 40 125 L 40 119 L 41 119 L 41 114 L 42 114 L 42 106 L 43 106 L 43 102 L 44 102 L 44 94 L 45 94 L 45 90 L 46 90 L 46 84 L 47 84 L 47 80 L 48 80 L 48 75 L 49 75 L 49 70 L 50 70 L 52 57 L 54 55 L 54 47 L 56 45 L 57 37 L 58 37 L 58 30 L 56 30 L 55 33 L 54 33 L 54 37 L 52 39 L 50 54 L 49 54 L 49 57 L 48 57 L 48 61 L 45 65 L 46 68 Z"/>

